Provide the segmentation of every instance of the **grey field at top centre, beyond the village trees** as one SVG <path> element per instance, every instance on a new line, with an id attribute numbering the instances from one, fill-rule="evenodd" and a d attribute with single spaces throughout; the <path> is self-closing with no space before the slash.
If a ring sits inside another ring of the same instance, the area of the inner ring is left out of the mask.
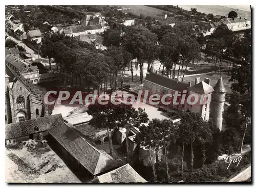
<path id="1" fill-rule="evenodd" d="M 153 7 L 147 7 L 145 5 L 121 5 L 122 8 L 131 8 L 129 11 L 136 15 L 144 14 L 145 16 L 155 17 L 157 20 L 163 19 L 162 13 L 164 10 L 156 9 Z"/>

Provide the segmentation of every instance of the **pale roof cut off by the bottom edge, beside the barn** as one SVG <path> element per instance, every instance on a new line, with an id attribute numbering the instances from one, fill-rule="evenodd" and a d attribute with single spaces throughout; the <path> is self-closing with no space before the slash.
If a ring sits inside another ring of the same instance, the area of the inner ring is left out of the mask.
<path id="1" fill-rule="evenodd" d="M 129 164 L 103 175 L 97 176 L 94 182 L 99 183 L 146 183 Z"/>

